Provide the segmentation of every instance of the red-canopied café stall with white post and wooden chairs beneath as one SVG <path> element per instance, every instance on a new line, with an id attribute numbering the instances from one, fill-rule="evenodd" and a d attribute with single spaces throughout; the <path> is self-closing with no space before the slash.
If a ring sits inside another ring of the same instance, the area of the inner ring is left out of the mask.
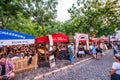
<path id="1" fill-rule="evenodd" d="M 38 37 L 35 39 L 36 44 L 44 44 L 44 47 L 41 49 L 41 47 L 38 47 L 38 53 L 39 56 L 44 57 L 45 61 L 48 61 L 49 56 L 51 55 L 51 51 L 54 48 L 54 44 L 55 43 L 67 43 L 69 42 L 69 38 L 67 35 L 65 34 L 52 34 L 52 35 L 48 35 L 48 36 L 43 36 L 43 37 Z M 49 48 L 46 48 L 46 44 L 48 45 Z M 39 59 L 41 59 L 41 57 L 39 57 Z"/>

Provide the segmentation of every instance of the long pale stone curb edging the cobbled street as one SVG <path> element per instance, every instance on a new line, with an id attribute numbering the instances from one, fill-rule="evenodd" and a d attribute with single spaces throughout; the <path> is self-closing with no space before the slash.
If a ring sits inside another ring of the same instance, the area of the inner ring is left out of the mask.
<path id="1" fill-rule="evenodd" d="M 43 79 L 43 78 L 45 78 L 45 77 L 48 77 L 48 76 L 50 76 L 50 75 L 52 75 L 52 74 L 56 74 L 56 73 L 58 73 L 58 72 L 66 71 L 66 70 L 71 69 L 71 68 L 73 68 L 74 66 L 76 66 L 76 65 L 78 65 L 78 64 L 80 64 L 80 63 L 86 62 L 86 61 L 91 60 L 91 59 L 92 59 L 92 57 L 87 58 L 87 59 L 84 59 L 84 60 L 79 61 L 79 62 L 76 62 L 76 63 L 74 63 L 73 65 L 68 65 L 68 66 L 62 67 L 62 68 L 60 68 L 60 69 L 53 70 L 53 71 L 51 71 L 51 72 L 47 72 L 47 73 L 41 74 L 41 75 L 39 75 L 39 76 L 34 77 L 34 80 L 38 80 L 38 79 L 41 80 L 41 79 Z"/>

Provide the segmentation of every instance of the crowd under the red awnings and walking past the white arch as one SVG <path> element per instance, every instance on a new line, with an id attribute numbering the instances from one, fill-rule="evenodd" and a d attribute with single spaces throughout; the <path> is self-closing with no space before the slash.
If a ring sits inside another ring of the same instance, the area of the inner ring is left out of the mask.
<path id="1" fill-rule="evenodd" d="M 49 53 L 49 55 L 54 55 L 55 59 L 60 58 L 70 60 L 70 64 L 73 63 L 74 57 L 84 58 L 87 54 L 92 55 L 95 59 L 100 59 L 101 56 L 104 55 L 104 52 L 110 48 L 108 43 L 90 43 L 88 48 L 86 42 L 79 42 L 77 52 L 75 51 L 74 43 L 54 43 L 52 50 L 49 49 L 48 45 L 45 46 L 45 48 L 43 45 L 39 46 L 38 50 L 40 50 L 40 48 L 46 48 L 46 52 Z"/>

